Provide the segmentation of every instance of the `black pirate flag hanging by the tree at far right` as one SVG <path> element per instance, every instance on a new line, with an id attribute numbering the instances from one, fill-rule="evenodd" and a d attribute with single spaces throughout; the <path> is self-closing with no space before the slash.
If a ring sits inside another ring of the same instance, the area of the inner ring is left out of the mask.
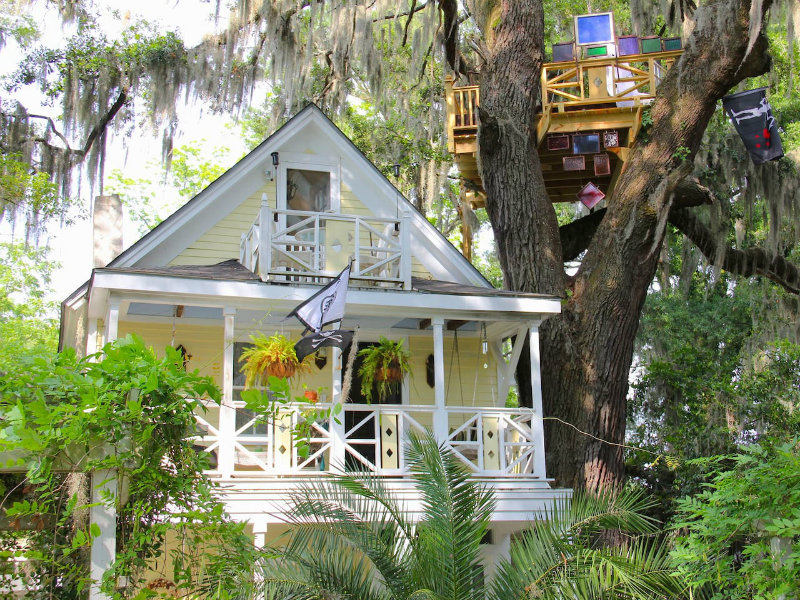
<path id="1" fill-rule="evenodd" d="M 783 156 L 778 124 L 772 116 L 766 89 L 739 92 L 722 99 L 725 112 L 757 165 Z"/>

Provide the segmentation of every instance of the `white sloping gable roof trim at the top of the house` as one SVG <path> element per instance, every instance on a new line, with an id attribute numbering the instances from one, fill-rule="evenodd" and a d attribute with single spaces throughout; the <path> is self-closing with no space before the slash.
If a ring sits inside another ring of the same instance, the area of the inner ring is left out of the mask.
<path id="1" fill-rule="evenodd" d="M 237 206 L 231 198 L 244 199 L 257 192 L 263 165 L 269 163 L 270 154 L 307 127 L 316 126 L 327 135 L 340 150 L 343 158 L 359 170 L 359 176 L 351 183 L 361 183 L 380 190 L 371 201 L 374 208 L 385 209 L 385 216 L 394 216 L 396 208 L 389 214 L 389 206 L 383 199 L 398 199 L 410 215 L 414 238 L 413 254 L 431 272 L 434 278 L 451 279 L 457 283 L 491 288 L 491 284 L 466 260 L 462 254 L 409 202 L 395 186 L 367 159 L 336 125 L 314 104 L 303 110 L 259 144 L 252 152 L 228 169 L 203 191 L 180 207 L 156 228 L 111 261 L 109 267 L 163 267 L 187 245 L 198 239 L 210 227 L 230 214 Z M 271 163 L 269 163 L 271 164 Z M 366 181 L 369 180 L 369 181 Z M 382 197 L 382 198 L 381 198 Z M 386 206 L 380 206 L 380 202 Z M 392 207 L 395 205 L 392 204 Z M 233 257 L 231 257 L 233 258 Z"/>

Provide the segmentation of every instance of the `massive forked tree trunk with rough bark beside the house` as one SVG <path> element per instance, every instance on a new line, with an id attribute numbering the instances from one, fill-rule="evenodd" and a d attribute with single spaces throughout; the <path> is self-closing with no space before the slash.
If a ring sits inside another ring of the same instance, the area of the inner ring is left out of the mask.
<path id="1" fill-rule="evenodd" d="M 536 152 L 541 2 L 504 0 L 485 36 L 479 162 L 506 285 L 567 297 L 541 330 L 547 467 L 558 485 L 598 491 L 622 483 L 634 337 L 673 191 L 691 170 L 717 100 L 769 65 L 762 36 L 746 52 L 749 13 L 750 0 L 698 9 L 697 28 L 651 107 L 649 141 L 633 148 L 570 289 Z"/>

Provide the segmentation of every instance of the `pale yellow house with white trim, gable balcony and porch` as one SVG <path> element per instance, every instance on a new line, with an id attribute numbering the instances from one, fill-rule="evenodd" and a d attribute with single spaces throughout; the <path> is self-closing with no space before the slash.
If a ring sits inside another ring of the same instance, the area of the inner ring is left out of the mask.
<path id="1" fill-rule="evenodd" d="M 290 435 L 300 406 L 256 422 L 240 400 L 238 356 L 256 332 L 298 337 L 288 313 L 351 258 L 342 327 L 358 328 L 358 344 L 404 340 L 413 375 L 391 402 L 364 403 L 356 385 L 343 398 L 346 354 L 327 349 L 298 387 L 320 389 L 322 406 L 342 402 L 344 418 L 317 427 L 304 455 Z M 188 367 L 214 378 L 223 402 L 198 414 L 197 443 L 213 456 L 228 513 L 258 545 L 285 528 L 288 492 L 320 473 L 367 468 L 413 506 L 403 439 L 432 430 L 495 491 L 491 569 L 514 532 L 568 493 L 545 472 L 539 383 L 539 326 L 559 310 L 557 298 L 494 289 L 311 105 L 95 268 L 63 303 L 61 345 L 91 353 L 136 333 L 155 348 L 182 346 Z M 526 337 L 533 406 L 507 408 Z M 92 548 L 99 579 L 114 557 L 115 516 L 98 506 L 92 518 L 103 532 Z"/>

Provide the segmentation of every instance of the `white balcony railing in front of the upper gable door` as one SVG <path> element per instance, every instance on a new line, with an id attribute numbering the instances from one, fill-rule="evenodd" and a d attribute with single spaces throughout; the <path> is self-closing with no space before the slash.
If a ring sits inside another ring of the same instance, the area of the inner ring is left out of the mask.
<path id="1" fill-rule="evenodd" d="M 319 282 L 354 259 L 351 279 L 410 289 L 410 217 L 384 219 L 299 210 L 273 210 L 262 199 L 242 234 L 239 261 L 262 280 Z"/>

